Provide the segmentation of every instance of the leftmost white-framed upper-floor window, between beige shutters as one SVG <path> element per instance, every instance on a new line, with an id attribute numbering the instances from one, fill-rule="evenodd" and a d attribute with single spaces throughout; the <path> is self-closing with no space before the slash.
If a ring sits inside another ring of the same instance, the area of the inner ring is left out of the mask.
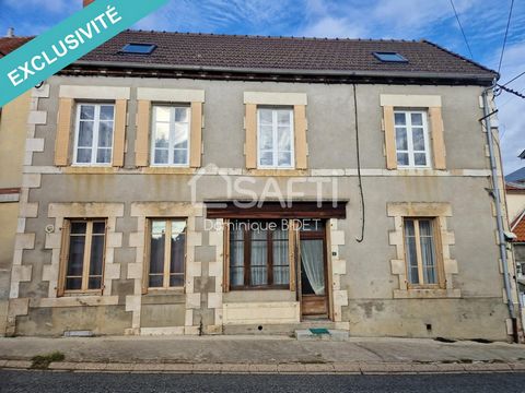
<path id="1" fill-rule="evenodd" d="M 115 105 L 79 104 L 73 163 L 109 165 L 112 163 Z"/>

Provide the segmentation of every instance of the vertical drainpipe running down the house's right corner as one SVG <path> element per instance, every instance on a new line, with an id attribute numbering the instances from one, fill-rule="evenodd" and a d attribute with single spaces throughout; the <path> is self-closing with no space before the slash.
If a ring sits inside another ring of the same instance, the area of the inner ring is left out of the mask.
<path id="1" fill-rule="evenodd" d="M 490 123 L 490 109 L 489 109 L 489 99 L 488 94 L 489 91 L 494 88 L 495 80 L 493 81 L 492 86 L 487 87 L 483 90 L 482 97 L 483 97 L 483 116 L 485 116 L 485 126 L 487 129 L 487 139 L 489 144 L 489 156 L 490 156 L 490 170 L 491 170 L 491 178 L 492 178 L 492 198 L 494 199 L 495 203 L 495 216 L 497 216 L 497 225 L 498 225 L 498 240 L 500 246 L 500 259 L 501 264 L 503 267 L 503 283 L 505 286 L 505 295 L 506 295 L 506 306 L 509 307 L 509 314 L 512 320 L 512 330 L 513 330 L 513 337 L 514 342 L 517 343 L 517 320 L 516 320 L 516 310 L 514 309 L 513 302 L 513 294 L 511 288 L 511 278 L 509 273 L 509 264 L 506 259 L 506 239 L 505 239 L 505 229 L 503 226 L 503 213 L 501 211 L 501 195 L 500 189 L 498 187 L 498 167 L 495 163 L 495 154 L 494 154 L 494 141 L 492 138 L 492 126 Z M 504 184 L 504 182 L 503 182 Z"/>

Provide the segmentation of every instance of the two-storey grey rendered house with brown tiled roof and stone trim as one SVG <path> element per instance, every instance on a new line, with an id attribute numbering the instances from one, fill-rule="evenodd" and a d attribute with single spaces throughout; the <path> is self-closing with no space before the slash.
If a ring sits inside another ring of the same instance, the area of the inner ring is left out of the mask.
<path id="1" fill-rule="evenodd" d="M 424 40 L 119 34 L 32 92 L 8 334 L 508 340 L 495 76 Z"/>

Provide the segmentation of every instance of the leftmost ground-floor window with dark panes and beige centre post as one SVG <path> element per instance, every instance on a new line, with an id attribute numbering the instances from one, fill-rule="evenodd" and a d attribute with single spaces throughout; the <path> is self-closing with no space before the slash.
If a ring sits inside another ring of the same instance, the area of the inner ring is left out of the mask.
<path id="1" fill-rule="evenodd" d="M 101 290 L 103 287 L 105 219 L 67 222 L 66 291 Z"/>

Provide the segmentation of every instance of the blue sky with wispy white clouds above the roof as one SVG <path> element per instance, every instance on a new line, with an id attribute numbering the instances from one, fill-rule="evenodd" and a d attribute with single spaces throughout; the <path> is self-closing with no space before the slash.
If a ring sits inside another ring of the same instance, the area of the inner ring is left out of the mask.
<path id="1" fill-rule="evenodd" d="M 421 39 L 499 69 L 512 0 L 171 0 L 135 28 L 340 38 Z M 79 11 L 82 0 L 0 0 L 0 35 L 37 35 Z M 471 56 L 470 56 L 471 52 Z M 525 0 L 514 0 L 500 83 L 525 71 Z M 525 75 L 508 85 L 525 94 Z M 504 172 L 525 166 L 525 99 L 497 97 Z"/>

